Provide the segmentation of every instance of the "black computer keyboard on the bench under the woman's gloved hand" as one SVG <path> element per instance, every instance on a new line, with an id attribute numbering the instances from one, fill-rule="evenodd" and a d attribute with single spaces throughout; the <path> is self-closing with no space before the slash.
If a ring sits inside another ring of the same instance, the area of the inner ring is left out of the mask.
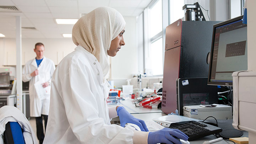
<path id="1" fill-rule="evenodd" d="M 164 127 L 181 130 L 181 132 L 188 136 L 188 141 L 222 132 L 222 128 L 198 121 L 186 121 L 171 124 L 162 123 L 161 125 Z"/>

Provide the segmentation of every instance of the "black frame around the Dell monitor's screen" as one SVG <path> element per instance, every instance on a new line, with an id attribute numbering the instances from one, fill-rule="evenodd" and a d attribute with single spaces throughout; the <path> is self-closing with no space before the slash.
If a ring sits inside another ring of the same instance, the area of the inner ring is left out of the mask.
<path id="1" fill-rule="evenodd" d="M 210 81 L 210 75 L 212 72 L 212 58 L 213 58 L 213 48 L 214 48 L 214 39 L 215 39 L 215 28 L 226 25 L 228 23 L 239 21 L 242 18 L 243 18 L 243 15 L 213 25 L 212 46 L 211 46 L 211 51 L 210 51 L 210 63 L 209 63 L 209 72 L 208 72 L 208 81 L 207 81 L 208 85 L 233 86 L 233 81 L 232 82 L 212 82 L 212 81 Z"/>

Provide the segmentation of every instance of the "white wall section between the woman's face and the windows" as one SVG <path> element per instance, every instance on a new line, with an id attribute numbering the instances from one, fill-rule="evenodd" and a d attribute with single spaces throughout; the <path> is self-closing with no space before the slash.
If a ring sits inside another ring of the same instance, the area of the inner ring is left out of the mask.
<path id="1" fill-rule="evenodd" d="M 123 34 L 125 46 L 111 57 L 111 80 L 129 79 L 138 73 L 136 17 L 124 17 L 126 28 Z"/>

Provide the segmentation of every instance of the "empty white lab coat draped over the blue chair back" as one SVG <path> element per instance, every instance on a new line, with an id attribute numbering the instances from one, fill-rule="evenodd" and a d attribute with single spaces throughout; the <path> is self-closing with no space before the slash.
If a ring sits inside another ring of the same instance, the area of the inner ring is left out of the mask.
<path id="1" fill-rule="evenodd" d="M 8 122 L 18 122 L 20 124 L 26 144 L 37 144 L 36 135 L 27 118 L 14 106 L 3 106 L 0 108 L 0 144 L 4 143 L 2 136 L 5 132 L 5 125 Z"/>

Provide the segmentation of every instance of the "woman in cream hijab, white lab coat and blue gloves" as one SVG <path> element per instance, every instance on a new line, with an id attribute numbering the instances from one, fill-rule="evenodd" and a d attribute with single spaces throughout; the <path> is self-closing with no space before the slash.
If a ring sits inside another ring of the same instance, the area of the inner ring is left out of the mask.
<path id="1" fill-rule="evenodd" d="M 169 128 L 148 132 L 145 122 L 124 107 L 107 106 L 107 55 L 115 56 L 125 45 L 124 26 L 122 15 L 110 7 L 99 7 L 76 22 L 72 39 L 77 47 L 63 58 L 52 77 L 44 144 L 181 144 L 171 135 L 187 140 L 187 135 Z M 117 116 L 122 127 L 110 124 L 110 119 Z M 137 124 L 142 131 L 124 127 L 126 123 Z"/>

